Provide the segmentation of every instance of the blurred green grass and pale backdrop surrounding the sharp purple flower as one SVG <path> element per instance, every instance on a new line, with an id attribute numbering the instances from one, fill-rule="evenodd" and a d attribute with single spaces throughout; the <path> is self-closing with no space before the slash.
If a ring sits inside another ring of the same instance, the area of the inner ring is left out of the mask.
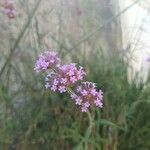
<path id="1" fill-rule="evenodd" d="M 150 150 L 149 0 L 0 0 L 0 150 L 84 150 L 88 117 L 34 71 L 47 49 L 104 92 L 87 150 Z"/>

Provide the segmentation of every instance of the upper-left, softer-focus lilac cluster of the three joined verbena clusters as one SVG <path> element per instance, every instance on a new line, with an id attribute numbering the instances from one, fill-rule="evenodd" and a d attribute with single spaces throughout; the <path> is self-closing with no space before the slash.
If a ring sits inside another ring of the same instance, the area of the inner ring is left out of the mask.
<path id="1" fill-rule="evenodd" d="M 35 68 L 37 72 L 45 71 L 47 69 L 55 69 L 60 63 L 60 58 L 56 52 L 46 51 L 41 54 L 36 61 Z"/>

